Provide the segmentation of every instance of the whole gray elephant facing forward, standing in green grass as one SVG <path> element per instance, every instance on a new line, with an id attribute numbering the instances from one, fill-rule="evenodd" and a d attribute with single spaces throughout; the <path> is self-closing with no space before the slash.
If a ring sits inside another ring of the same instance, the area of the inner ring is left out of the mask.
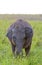
<path id="1" fill-rule="evenodd" d="M 9 27 L 6 36 L 11 42 L 12 51 L 15 55 L 20 54 L 22 48 L 28 55 L 33 37 L 33 30 L 29 23 L 22 19 L 17 20 Z"/>

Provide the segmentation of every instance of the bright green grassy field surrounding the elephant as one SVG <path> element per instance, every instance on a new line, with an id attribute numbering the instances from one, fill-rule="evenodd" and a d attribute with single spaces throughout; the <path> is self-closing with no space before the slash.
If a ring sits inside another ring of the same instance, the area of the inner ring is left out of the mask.
<path id="1" fill-rule="evenodd" d="M 13 21 L 0 20 L 0 65 L 42 65 L 42 22 L 30 21 L 34 30 L 34 36 L 30 55 L 23 58 L 14 58 L 11 44 L 5 36 L 7 28 L 12 22 Z"/>

